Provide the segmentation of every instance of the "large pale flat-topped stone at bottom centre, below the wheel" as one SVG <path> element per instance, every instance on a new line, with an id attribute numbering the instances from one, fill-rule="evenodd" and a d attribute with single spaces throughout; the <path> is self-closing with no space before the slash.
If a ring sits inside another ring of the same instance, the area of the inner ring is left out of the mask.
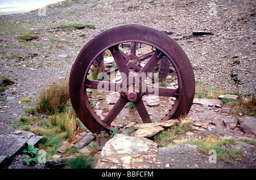
<path id="1" fill-rule="evenodd" d="M 157 144 L 146 138 L 115 134 L 102 148 L 96 169 L 147 168 L 142 162 L 150 156 L 154 158 Z M 143 158 L 144 157 L 144 158 Z"/>

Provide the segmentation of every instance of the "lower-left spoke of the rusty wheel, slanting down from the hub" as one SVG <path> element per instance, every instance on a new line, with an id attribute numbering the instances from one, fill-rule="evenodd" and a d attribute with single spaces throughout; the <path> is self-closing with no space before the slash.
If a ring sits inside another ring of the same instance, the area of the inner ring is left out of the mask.
<path id="1" fill-rule="evenodd" d="M 115 117 L 117 117 L 117 115 L 121 112 L 121 110 L 125 107 L 125 105 L 127 104 L 128 100 L 126 100 L 125 97 L 120 96 L 119 100 L 115 103 L 115 105 L 113 106 L 113 108 L 110 110 L 110 112 L 108 113 L 108 115 L 106 115 L 104 122 L 107 125 L 110 125 L 112 123 L 112 121 L 114 121 Z"/>

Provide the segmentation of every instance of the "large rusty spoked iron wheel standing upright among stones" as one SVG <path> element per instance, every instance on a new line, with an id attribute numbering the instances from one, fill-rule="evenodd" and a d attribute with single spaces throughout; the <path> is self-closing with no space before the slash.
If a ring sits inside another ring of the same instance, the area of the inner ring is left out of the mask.
<path id="1" fill-rule="evenodd" d="M 129 49 L 128 53 L 124 53 L 123 46 Z M 150 50 L 138 53 L 140 48 L 145 47 Z M 114 59 L 112 70 L 104 65 L 106 52 L 110 52 Z M 114 69 L 122 74 L 122 79 L 119 82 L 113 82 L 106 76 L 103 80 L 92 79 L 96 67 L 100 67 L 105 74 Z M 166 79 L 168 73 L 175 74 L 174 88 L 158 87 L 154 82 L 146 83 L 155 67 L 158 67 L 161 81 Z M 148 73 L 148 76 L 145 78 L 143 73 Z M 104 117 L 97 114 L 88 97 L 88 91 L 99 87 L 119 93 L 118 101 Z M 154 91 L 149 91 L 150 88 Z M 195 95 L 193 69 L 187 55 L 174 40 L 163 32 L 139 24 L 120 25 L 94 37 L 82 48 L 69 76 L 72 106 L 80 121 L 93 133 L 112 131 L 114 127 L 111 123 L 128 102 L 134 102 L 143 122 L 151 122 L 142 97 L 155 92 L 158 92 L 157 96 L 171 97 L 175 101 L 161 122 L 187 115 Z"/>

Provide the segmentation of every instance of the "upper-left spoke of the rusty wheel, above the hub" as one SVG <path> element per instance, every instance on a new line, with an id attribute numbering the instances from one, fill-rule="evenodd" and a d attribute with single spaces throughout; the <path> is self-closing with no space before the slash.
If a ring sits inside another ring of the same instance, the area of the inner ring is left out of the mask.
<path id="1" fill-rule="evenodd" d="M 126 77 L 128 77 L 129 70 L 126 66 L 125 59 L 123 59 L 123 55 L 119 50 L 118 46 L 119 45 L 114 45 L 111 48 L 109 48 L 109 50 L 112 53 L 113 58 L 115 59 L 115 64 L 117 65 L 119 72 L 125 73 Z"/>

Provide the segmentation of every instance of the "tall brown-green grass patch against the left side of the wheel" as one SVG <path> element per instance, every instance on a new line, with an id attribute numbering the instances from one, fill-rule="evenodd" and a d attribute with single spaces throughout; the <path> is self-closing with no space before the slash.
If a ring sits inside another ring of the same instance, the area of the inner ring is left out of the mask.
<path id="1" fill-rule="evenodd" d="M 79 119 L 69 100 L 68 79 L 52 83 L 44 89 L 35 106 L 25 108 L 27 114 L 22 115 L 15 126 L 43 136 L 39 149 L 45 150 L 48 158 L 58 153 L 56 148 L 59 148 L 64 140 L 70 141 L 75 138 L 77 132 L 84 130 L 80 127 Z M 77 153 L 77 149 L 68 149 L 64 156 L 72 153 Z"/>

